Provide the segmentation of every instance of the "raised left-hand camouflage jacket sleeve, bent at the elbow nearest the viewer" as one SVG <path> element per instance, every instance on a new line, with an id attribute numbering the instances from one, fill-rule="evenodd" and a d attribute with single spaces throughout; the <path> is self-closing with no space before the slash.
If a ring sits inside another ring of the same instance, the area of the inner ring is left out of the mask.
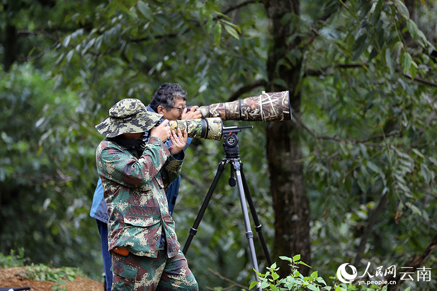
<path id="1" fill-rule="evenodd" d="M 105 141 L 102 142 L 97 148 L 99 174 L 126 187 L 148 184 L 171 156 L 168 148 L 156 137 L 149 139 L 139 159 L 113 142 L 106 143 L 105 146 Z"/>

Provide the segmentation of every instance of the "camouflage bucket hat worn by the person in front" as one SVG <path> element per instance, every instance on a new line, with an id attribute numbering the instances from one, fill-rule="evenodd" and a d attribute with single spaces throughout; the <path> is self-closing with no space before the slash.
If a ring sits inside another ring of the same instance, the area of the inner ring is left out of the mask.
<path id="1" fill-rule="evenodd" d="M 122 133 L 148 131 L 162 117 L 161 114 L 147 111 L 138 99 L 123 99 L 109 110 L 110 115 L 96 125 L 98 132 L 107 138 Z"/>

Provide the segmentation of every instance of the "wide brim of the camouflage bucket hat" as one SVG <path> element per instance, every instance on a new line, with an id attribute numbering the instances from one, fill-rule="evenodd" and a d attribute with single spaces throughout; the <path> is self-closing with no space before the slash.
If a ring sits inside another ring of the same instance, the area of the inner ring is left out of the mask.
<path id="1" fill-rule="evenodd" d="M 161 114 L 150 111 L 139 112 L 130 120 L 126 118 L 124 120 L 114 119 L 108 116 L 101 123 L 96 125 L 96 129 L 105 137 L 113 138 L 123 133 L 148 131 L 155 126 L 161 118 Z"/>

